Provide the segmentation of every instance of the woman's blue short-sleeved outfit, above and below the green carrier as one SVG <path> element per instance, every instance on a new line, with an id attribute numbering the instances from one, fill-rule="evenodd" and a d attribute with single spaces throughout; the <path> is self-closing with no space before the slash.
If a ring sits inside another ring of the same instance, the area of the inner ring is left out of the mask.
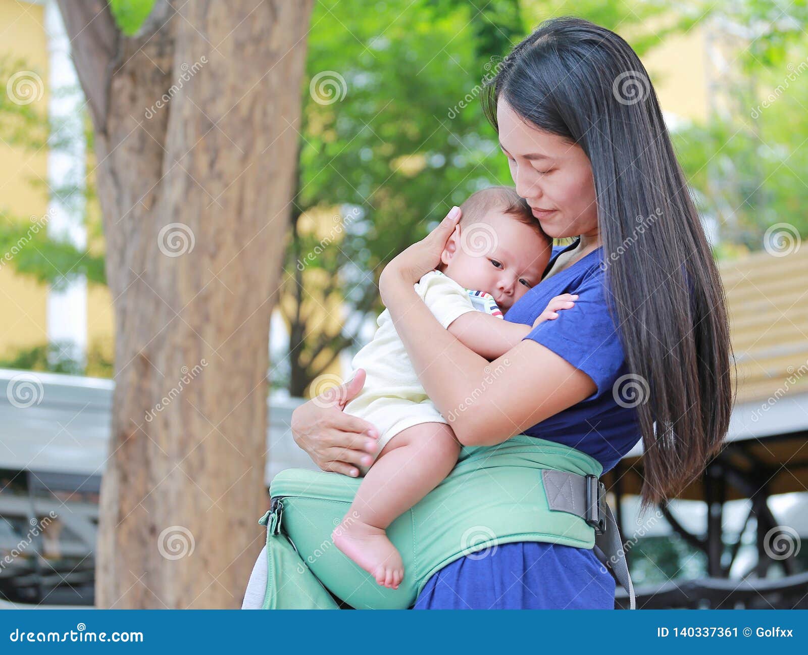
<path id="1" fill-rule="evenodd" d="M 553 247 L 548 270 L 574 246 L 577 242 Z M 608 311 L 602 261 L 601 247 L 537 284 L 508 310 L 505 320 L 532 325 L 553 296 L 578 294 L 572 309 L 559 310 L 558 318 L 544 321 L 525 338 L 586 373 L 597 389 L 524 434 L 577 448 L 600 461 L 605 472 L 638 442 L 640 431 L 636 411 L 615 397 L 615 383 L 628 370 Z M 587 548 L 518 542 L 444 566 L 427 581 L 415 609 L 611 609 L 614 586 L 611 573 Z"/>

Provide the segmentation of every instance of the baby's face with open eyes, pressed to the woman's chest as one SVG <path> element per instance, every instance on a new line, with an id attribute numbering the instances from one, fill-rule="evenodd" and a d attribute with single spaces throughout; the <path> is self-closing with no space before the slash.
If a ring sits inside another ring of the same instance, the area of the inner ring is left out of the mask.
<path id="1" fill-rule="evenodd" d="M 463 221 L 441 255 L 443 272 L 467 289 L 494 296 L 503 311 L 541 281 L 552 245 L 502 212 Z"/>

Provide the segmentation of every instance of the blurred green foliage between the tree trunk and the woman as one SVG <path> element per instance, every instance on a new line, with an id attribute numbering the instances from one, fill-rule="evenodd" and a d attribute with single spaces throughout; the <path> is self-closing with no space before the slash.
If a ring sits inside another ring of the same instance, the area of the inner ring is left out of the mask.
<path id="1" fill-rule="evenodd" d="M 362 0 L 315 5 L 285 264 L 292 394 L 301 394 L 339 351 L 356 344 L 360 326 L 381 310 L 377 279 L 391 258 L 423 237 L 452 204 L 479 188 L 512 183 L 478 99 L 497 61 L 529 26 L 551 14 L 574 10 L 622 29 L 667 10 L 657 3 L 632 10 L 629 4 L 585 0 L 548 8 L 518 0 L 416 0 L 406 10 L 401 2 L 376 2 L 372 9 Z M 635 29 L 640 48 L 694 19 L 677 18 L 648 36 Z M 307 231 L 298 216 L 318 207 L 340 213 L 347 225 L 343 229 L 337 216 L 324 229 Z M 323 314 L 338 304 L 347 305 L 347 320 L 335 317 L 326 325 Z"/>

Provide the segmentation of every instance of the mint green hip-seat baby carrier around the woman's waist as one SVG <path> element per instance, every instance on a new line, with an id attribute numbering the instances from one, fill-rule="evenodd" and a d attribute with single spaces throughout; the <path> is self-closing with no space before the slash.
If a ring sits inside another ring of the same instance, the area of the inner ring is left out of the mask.
<path id="1" fill-rule="evenodd" d="M 499 544 L 543 541 L 595 548 L 629 593 L 623 544 L 598 477 L 600 463 L 545 439 L 516 435 L 492 447 L 464 447 L 452 472 L 389 526 L 401 552 L 397 590 L 339 551 L 331 532 L 361 480 L 291 468 L 270 485 L 264 609 L 407 609 L 433 573 L 462 556 L 484 557 Z"/>

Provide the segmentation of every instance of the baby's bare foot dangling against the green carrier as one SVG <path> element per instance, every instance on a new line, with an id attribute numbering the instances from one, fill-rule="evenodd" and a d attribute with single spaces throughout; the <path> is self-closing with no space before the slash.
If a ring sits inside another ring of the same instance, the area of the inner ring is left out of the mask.
<path id="1" fill-rule="evenodd" d="M 404 577 L 402 556 L 381 527 L 344 519 L 331 533 L 334 545 L 388 589 L 398 589 Z"/>

